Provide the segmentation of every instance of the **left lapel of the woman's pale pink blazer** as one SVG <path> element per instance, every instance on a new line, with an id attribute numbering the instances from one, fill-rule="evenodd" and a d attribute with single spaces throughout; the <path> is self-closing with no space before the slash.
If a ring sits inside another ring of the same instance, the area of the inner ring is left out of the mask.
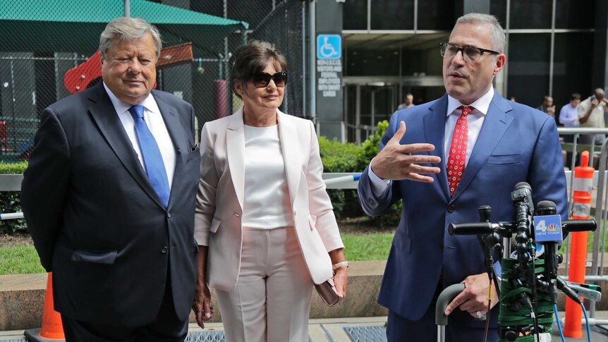
<path id="1" fill-rule="evenodd" d="M 243 123 L 243 107 L 230 116 L 230 122 L 228 128 L 226 128 L 226 157 L 236 198 L 238 204 L 241 205 L 241 210 L 243 210 L 243 196 L 245 194 L 245 128 Z"/>

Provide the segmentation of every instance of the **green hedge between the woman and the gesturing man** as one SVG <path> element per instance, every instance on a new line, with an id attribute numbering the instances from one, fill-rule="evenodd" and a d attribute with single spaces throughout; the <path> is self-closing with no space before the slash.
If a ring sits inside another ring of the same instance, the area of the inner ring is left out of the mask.
<path id="1" fill-rule="evenodd" d="M 378 153 L 380 139 L 389 126 L 388 121 L 378 123 L 373 135 L 365 140 L 361 146 L 350 142 L 342 144 L 337 140 L 319 138 L 321 160 L 324 172 L 363 172 L 365 166 Z M 359 204 L 357 190 L 329 189 L 329 198 L 334 205 L 334 212 L 339 219 L 347 217 L 364 216 L 365 213 Z M 375 218 L 376 224 L 382 226 L 396 226 L 401 217 L 401 202 L 395 204 L 391 210 Z"/>

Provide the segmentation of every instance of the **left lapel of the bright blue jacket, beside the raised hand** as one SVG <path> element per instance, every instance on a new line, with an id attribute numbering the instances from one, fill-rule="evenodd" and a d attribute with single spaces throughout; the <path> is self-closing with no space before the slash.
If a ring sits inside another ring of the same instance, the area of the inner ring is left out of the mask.
<path id="1" fill-rule="evenodd" d="M 446 176 L 446 161 L 444 153 L 444 131 L 442 129 L 446 126 L 446 111 L 448 108 L 448 96 L 444 96 L 437 100 L 432 106 L 429 107 L 429 112 L 425 114 L 423 119 L 425 126 L 425 142 L 434 145 L 434 151 L 427 152 L 430 155 L 437 156 L 442 159 L 439 163 L 439 169 L 441 172 L 437 174 L 437 182 L 439 188 L 442 189 L 446 200 L 449 200 L 450 193 L 448 188 L 448 180 Z M 406 133 L 408 134 L 408 133 Z"/>

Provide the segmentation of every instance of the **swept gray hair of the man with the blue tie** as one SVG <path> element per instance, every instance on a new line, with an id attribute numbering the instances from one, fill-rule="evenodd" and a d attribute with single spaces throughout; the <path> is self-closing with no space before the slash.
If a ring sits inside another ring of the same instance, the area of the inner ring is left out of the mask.
<path id="1" fill-rule="evenodd" d="M 99 52 L 104 60 L 107 60 L 108 49 L 116 42 L 133 42 L 145 37 L 150 33 L 156 50 L 156 61 L 162 49 L 162 39 L 156 26 L 147 23 L 142 18 L 119 17 L 106 25 L 104 32 L 99 37 Z"/>

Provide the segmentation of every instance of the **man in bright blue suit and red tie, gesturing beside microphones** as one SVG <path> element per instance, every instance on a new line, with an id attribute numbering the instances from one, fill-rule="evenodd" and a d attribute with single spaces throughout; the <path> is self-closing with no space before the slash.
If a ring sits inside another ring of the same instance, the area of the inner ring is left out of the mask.
<path id="1" fill-rule="evenodd" d="M 509 102 L 492 87 L 504 67 L 504 31 L 494 16 L 458 18 L 442 43 L 447 94 L 393 114 L 380 152 L 359 182 L 367 214 L 402 200 L 378 302 L 389 308 L 389 341 L 434 341 L 434 306 L 443 288 L 464 283 L 447 307 L 448 341 L 481 341 L 490 282 L 475 236 L 449 236 L 450 223 L 513 221 L 510 193 L 528 182 L 533 200 L 552 200 L 565 219 L 566 178 L 553 118 Z M 406 133 L 407 127 L 407 133 Z M 492 303 L 497 295 L 492 286 Z M 459 310 L 456 310 L 456 309 Z M 488 341 L 497 341 L 497 307 Z"/>

